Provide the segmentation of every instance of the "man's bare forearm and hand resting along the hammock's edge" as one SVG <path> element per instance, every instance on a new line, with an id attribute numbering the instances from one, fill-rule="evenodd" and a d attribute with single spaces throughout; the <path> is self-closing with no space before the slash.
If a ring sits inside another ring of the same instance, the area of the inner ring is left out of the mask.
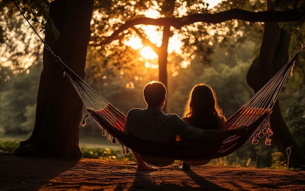
<path id="1" fill-rule="evenodd" d="M 248 131 L 247 126 L 241 126 L 236 129 L 230 129 L 230 130 L 209 129 L 209 130 L 204 130 L 201 139 L 217 140 L 217 139 L 231 137 L 234 135 L 243 136 L 247 133 L 247 131 Z"/>

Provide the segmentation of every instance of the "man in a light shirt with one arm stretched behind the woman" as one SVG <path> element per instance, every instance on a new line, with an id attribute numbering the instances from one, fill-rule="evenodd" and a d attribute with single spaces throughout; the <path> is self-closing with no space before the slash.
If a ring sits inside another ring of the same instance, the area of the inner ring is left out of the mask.
<path id="1" fill-rule="evenodd" d="M 146 84 L 143 96 L 147 108 L 133 108 L 128 112 L 124 132 L 154 142 L 174 141 L 177 135 L 183 139 L 214 140 L 233 135 L 242 136 L 247 132 L 244 126 L 232 130 L 203 130 L 189 125 L 176 114 L 165 114 L 162 108 L 166 101 L 166 93 L 166 87 L 161 82 L 153 81 Z M 146 163 L 167 166 L 173 162 L 171 159 L 140 156 L 135 152 L 133 155 L 137 160 L 137 171 L 156 170 Z M 187 161 L 187 163 L 202 165 L 209 161 L 199 161 L 199 163 Z"/>

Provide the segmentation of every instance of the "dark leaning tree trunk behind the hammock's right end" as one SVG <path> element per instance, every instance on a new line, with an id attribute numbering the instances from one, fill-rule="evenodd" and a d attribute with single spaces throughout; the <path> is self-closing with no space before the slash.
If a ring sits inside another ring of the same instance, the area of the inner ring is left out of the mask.
<path id="1" fill-rule="evenodd" d="M 253 61 L 247 76 L 248 84 L 255 92 L 263 87 L 286 64 L 289 42 L 290 35 L 284 29 L 281 29 L 278 23 L 265 24 L 259 57 Z M 290 156 L 292 167 L 297 168 L 304 165 L 305 158 L 283 120 L 278 102 L 273 107 L 270 123 L 274 133 L 271 139 L 275 142 L 279 151 L 286 156 L 286 148 L 293 145 Z"/>

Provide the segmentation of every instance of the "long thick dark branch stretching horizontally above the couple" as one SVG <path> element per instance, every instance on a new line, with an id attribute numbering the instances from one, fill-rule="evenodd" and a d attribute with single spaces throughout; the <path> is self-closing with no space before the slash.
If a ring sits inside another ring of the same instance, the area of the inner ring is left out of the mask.
<path id="1" fill-rule="evenodd" d="M 165 17 L 157 19 L 140 17 L 125 22 L 125 24 L 114 31 L 111 36 L 107 37 L 102 44 L 110 43 L 111 41 L 115 40 L 117 35 L 119 35 L 121 32 L 138 24 L 173 26 L 180 29 L 182 26 L 190 25 L 195 22 L 215 24 L 231 19 L 239 19 L 249 22 L 288 22 L 300 20 L 301 16 L 296 10 L 251 12 L 242 9 L 230 9 L 220 13 L 193 14 L 185 17 Z"/>

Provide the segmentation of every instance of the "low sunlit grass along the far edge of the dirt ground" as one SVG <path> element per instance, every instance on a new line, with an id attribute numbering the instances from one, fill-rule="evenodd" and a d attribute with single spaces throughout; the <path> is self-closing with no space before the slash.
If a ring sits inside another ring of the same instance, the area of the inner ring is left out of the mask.
<path id="1" fill-rule="evenodd" d="M 0 135 L 0 153 L 13 153 L 18 148 L 20 141 L 26 139 L 28 139 L 26 136 Z M 119 143 L 113 144 L 111 141 L 107 141 L 105 137 L 83 137 L 80 138 L 79 145 L 84 158 L 135 161 L 132 152 L 127 155 L 122 155 L 121 145 Z M 250 162 L 249 159 L 250 158 L 244 161 L 233 153 L 222 158 L 212 159 L 209 164 L 256 168 L 256 164 L 253 163 L 253 161 Z M 273 153 L 271 166 L 265 168 L 286 169 L 286 162 L 287 161 L 283 159 L 281 153 Z"/>

